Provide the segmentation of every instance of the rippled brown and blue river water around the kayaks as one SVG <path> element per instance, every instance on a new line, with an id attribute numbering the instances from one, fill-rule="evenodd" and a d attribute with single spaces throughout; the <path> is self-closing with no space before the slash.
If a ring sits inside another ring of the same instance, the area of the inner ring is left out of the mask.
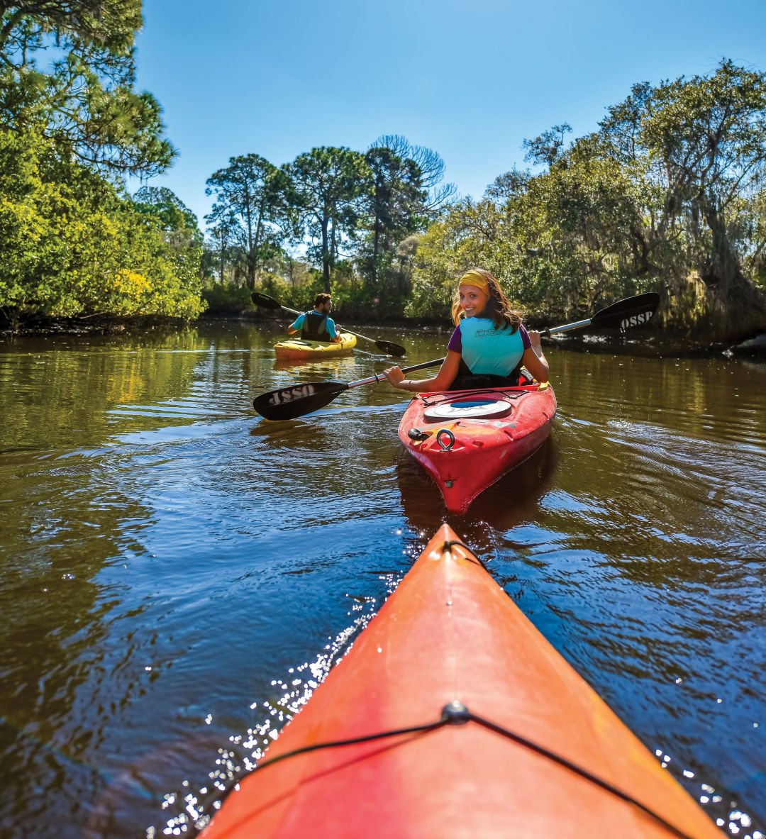
<path id="1" fill-rule="evenodd" d="M 375 334 L 409 363 L 446 345 Z M 280 367 L 276 336 L 0 343 L 0 833 L 178 826 L 447 520 L 711 818 L 763 836 L 766 363 L 556 343 L 549 443 L 448 517 L 387 384 L 301 420 L 253 412 L 390 363 Z"/>

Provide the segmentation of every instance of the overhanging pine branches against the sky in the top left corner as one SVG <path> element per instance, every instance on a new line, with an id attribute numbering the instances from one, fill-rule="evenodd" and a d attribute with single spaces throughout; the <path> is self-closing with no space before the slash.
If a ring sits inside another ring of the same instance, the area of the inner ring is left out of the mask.
<path id="1" fill-rule="evenodd" d="M 0 126 L 35 131 L 62 158 L 154 175 L 175 149 L 159 104 L 137 93 L 140 0 L 0 3 Z"/>

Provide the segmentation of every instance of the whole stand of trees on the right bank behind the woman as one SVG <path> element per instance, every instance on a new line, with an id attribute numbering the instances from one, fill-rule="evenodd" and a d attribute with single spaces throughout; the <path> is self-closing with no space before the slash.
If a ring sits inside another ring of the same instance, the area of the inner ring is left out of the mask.
<path id="1" fill-rule="evenodd" d="M 524 310 L 577 317 L 618 296 L 664 295 L 660 322 L 727 339 L 766 326 L 766 76 L 644 82 L 599 131 L 567 123 L 524 141 L 545 170 L 512 170 L 421 238 L 411 314 L 446 315 L 456 275 L 482 263 Z"/>

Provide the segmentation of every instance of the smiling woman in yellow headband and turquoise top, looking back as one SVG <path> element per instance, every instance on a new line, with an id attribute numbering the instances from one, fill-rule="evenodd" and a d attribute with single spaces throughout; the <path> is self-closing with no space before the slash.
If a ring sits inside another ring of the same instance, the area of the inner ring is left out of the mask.
<path id="1" fill-rule="evenodd" d="M 414 393 L 518 385 L 522 365 L 539 382 L 548 381 L 548 362 L 540 334 L 527 331 L 498 280 L 484 268 L 472 268 L 460 279 L 452 305 L 455 331 L 433 378 L 410 380 L 399 367 L 385 371 L 399 390 Z"/>

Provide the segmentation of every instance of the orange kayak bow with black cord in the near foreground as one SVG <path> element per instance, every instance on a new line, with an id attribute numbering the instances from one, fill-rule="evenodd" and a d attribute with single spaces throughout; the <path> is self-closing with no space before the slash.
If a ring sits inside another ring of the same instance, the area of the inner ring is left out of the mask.
<path id="1" fill-rule="evenodd" d="M 205 839 L 721 839 L 443 525 Z"/>

